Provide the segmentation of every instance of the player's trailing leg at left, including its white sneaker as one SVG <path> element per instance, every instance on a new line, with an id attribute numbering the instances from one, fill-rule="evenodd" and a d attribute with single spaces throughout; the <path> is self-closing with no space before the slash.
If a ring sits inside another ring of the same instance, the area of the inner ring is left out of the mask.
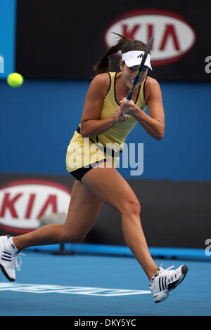
<path id="1" fill-rule="evenodd" d="M 46 225 L 25 235 L 0 237 L 0 268 L 9 281 L 15 281 L 20 250 L 28 246 L 82 242 L 101 210 L 102 202 L 79 181 L 75 181 L 64 225 Z"/>

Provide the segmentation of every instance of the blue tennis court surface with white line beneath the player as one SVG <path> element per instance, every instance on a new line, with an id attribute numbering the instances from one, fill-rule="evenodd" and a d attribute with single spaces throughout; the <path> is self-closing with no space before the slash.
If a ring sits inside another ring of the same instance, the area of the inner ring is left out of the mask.
<path id="1" fill-rule="evenodd" d="M 155 259 L 167 268 L 188 265 L 188 275 L 169 298 L 153 303 L 148 279 L 135 258 L 25 249 L 15 282 L 1 275 L 4 316 L 201 316 L 210 315 L 211 263 Z"/>

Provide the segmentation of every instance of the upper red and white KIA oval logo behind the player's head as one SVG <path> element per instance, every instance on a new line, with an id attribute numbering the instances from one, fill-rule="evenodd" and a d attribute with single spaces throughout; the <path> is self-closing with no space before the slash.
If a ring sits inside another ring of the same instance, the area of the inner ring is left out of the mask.
<path id="1" fill-rule="evenodd" d="M 145 43 L 154 37 L 151 48 L 152 65 L 165 65 L 179 60 L 191 50 L 196 33 L 184 18 L 167 11 L 143 10 L 125 13 L 106 30 L 105 42 L 110 47 L 117 37 L 111 32 Z"/>

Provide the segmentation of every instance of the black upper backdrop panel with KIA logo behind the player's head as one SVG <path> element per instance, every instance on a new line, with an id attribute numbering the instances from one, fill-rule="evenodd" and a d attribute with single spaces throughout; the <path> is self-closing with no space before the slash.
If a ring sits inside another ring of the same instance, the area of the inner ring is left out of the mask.
<path id="1" fill-rule="evenodd" d="M 155 37 L 155 79 L 210 81 L 209 1 L 17 2 L 16 71 L 25 78 L 90 79 L 113 31 Z"/>

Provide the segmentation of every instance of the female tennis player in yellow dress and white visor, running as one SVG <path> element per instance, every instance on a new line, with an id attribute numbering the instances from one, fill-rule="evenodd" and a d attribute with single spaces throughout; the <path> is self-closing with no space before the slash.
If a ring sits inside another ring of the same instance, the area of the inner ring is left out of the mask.
<path id="1" fill-rule="evenodd" d="M 156 140 L 164 136 L 160 86 L 148 77 L 150 55 L 132 100 L 126 100 L 145 48 L 141 41 L 120 36 L 95 65 L 96 76 L 87 92 L 82 119 L 67 150 L 67 169 L 76 179 L 67 219 L 64 225 L 46 225 L 25 235 L 0 237 L 0 267 L 9 281 L 15 280 L 17 257 L 26 247 L 82 242 L 103 203 L 120 212 L 125 242 L 150 281 L 155 303 L 164 301 L 186 276 L 186 265 L 165 270 L 155 264 L 141 227 L 139 200 L 116 169 L 124 141 L 136 124 Z M 118 51 L 122 52 L 120 72 L 110 72 L 108 58 Z"/>

